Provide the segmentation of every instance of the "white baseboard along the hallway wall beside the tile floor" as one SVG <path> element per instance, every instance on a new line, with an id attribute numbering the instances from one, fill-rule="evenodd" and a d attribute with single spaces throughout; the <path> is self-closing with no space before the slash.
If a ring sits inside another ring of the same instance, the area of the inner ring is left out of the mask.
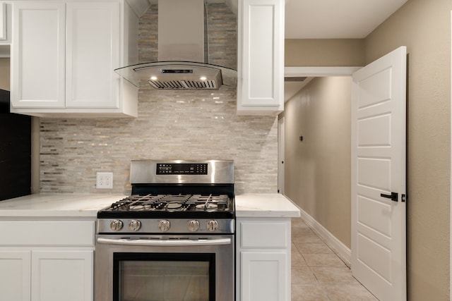
<path id="1" fill-rule="evenodd" d="M 352 251 L 344 245 L 338 238 L 335 238 L 325 227 L 323 227 L 318 221 L 316 221 L 312 216 L 307 214 L 303 209 L 299 209 L 301 218 L 305 223 L 308 224 L 316 232 L 317 235 L 328 245 L 328 247 L 337 254 L 340 259 L 350 267 L 350 262 L 352 262 Z"/>

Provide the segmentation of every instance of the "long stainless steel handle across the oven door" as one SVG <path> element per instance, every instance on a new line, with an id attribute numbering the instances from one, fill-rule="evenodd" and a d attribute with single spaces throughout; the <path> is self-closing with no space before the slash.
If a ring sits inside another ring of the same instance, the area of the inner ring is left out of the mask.
<path id="1" fill-rule="evenodd" d="M 108 245 L 147 245 L 147 246 L 186 246 L 186 245 L 230 245 L 230 238 L 220 238 L 215 240 L 143 240 L 143 239 L 111 239 L 97 238 L 98 243 Z"/>

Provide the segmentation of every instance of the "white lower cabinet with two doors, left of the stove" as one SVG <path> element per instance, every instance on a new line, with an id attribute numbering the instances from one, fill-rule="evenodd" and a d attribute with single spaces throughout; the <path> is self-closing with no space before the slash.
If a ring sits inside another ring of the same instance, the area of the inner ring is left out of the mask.
<path id="1" fill-rule="evenodd" d="M 0 233 L 0 300 L 93 300 L 94 221 L 0 221 L 0 227 L 8 229 Z"/>

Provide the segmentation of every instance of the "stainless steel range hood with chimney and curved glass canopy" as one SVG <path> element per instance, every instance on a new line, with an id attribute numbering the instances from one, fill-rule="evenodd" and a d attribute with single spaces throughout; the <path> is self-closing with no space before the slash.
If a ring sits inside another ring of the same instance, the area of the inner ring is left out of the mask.
<path id="1" fill-rule="evenodd" d="M 237 70 L 209 63 L 210 11 L 206 1 L 210 0 L 158 0 L 158 61 L 114 71 L 136 87 L 150 85 L 160 90 L 236 87 Z"/>

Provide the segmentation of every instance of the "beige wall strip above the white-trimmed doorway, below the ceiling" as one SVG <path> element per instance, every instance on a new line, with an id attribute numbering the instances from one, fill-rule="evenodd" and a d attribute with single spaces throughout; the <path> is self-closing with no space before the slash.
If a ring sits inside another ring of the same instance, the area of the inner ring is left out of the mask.
<path id="1" fill-rule="evenodd" d="M 286 39 L 285 66 L 364 66 L 364 39 Z"/>

